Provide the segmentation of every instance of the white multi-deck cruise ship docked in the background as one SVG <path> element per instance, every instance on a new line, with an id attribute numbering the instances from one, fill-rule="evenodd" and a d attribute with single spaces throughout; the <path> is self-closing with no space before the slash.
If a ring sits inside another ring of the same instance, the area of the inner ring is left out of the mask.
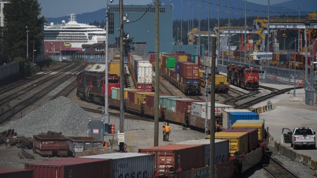
<path id="1" fill-rule="evenodd" d="M 74 13 L 70 15 L 69 22 L 63 20 L 61 24 L 44 26 L 44 41 L 63 42 L 68 47 L 81 48 L 83 44 L 94 44 L 106 41 L 106 30 L 99 27 L 76 22 Z"/>

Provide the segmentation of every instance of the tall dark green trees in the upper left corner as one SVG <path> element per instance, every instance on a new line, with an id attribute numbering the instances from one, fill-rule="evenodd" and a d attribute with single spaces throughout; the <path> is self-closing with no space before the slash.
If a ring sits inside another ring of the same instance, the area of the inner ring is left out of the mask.
<path id="1" fill-rule="evenodd" d="M 27 63 L 32 60 L 33 44 L 35 44 L 35 56 L 41 53 L 41 35 L 45 17 L 41 15 L 41 7 L 37 0 L 9 0 L 3 8 L 6 25 L 3 27 L 2 41 L 3 53 L 10 61 L 15 58 L 27 58 L 27 32 L 29 30 L 29 56 Z"/>

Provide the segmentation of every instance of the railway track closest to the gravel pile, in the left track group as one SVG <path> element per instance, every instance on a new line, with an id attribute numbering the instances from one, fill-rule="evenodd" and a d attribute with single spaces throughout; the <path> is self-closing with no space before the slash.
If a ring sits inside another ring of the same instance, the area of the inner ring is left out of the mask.
<path id="1" fill-rule="evenodd" d="M 74 67 L 72 67 L 74 68 Z M 34 102 L 36 102 L 37 100 L 41 99 L 43 96 L 45 96 L 47 93 L 49 93 L 50 91 L 52 91 L 55 87 L 57 87 L 58 85 L 60 85 L 61 83 L 63 83 L 64 81 L 66 81 L 67 79 L 69 79 L 70 77 L 72 77 L 74 74 L 76 74 L 79 71 L 81 71 L 83 68 L 85 68 L 85 66 L 82 66 L 80 69 L 75 70 L 72 73 L 67 74 L 66 76 L 62 77 L 61 79 L 53 82 L 52 84 L 46 86 L 44 89 L 42 89 L 40 92 L 35 93 L 33 96 L 24 99 L 22 102 L 14 105 L 14 106 L 10 106 L 8 104 L 8 106 L 10 107 L 7 110 L 3 110 L 2 109 L 2 113 L 0 114 L 0 123 L 4 122 L 5 120 L 11 118 L 13 115 L 15 115 L 16 113 L 18 113 L 19 111 L 22 111 L 24 108 L 26 108 L 27 106 L 33 104 Z M 65 71 L 66 72 L 66 71 Z M 63 73 L 65 73 L 63 72 Z M 31 88 L 33 89 L 33 88 Z M 31 90 L 30 89 L 30 90 Z M 8 99 L 7 101 L 5 101 L 4 103 L 9 103 L 12 99 L 14 99 L 16 97 L 13 97 L 11 99 Z M 3 103 L 2 103 L 3 104 Z"/>

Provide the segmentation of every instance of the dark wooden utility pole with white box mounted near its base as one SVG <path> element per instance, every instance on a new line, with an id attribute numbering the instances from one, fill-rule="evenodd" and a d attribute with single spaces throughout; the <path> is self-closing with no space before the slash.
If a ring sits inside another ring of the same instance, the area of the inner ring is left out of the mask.
<path id="1" fill-rule="evenodd" d="M 120 9 L 120 133 L 124 133 L 124 50 L 123 50 L 123 0 L 119 0 Z M 120 142 L 120 151 L 124 151 L 124 143 Z"/>

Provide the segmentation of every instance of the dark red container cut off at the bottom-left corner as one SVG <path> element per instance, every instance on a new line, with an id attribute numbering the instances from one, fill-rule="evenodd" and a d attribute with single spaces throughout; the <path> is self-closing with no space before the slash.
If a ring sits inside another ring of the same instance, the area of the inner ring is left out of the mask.
<path id="1" fill-rule="evenodd" d="M 33 170 L 0 168 L 0 178 L 33 178 Z"/>

